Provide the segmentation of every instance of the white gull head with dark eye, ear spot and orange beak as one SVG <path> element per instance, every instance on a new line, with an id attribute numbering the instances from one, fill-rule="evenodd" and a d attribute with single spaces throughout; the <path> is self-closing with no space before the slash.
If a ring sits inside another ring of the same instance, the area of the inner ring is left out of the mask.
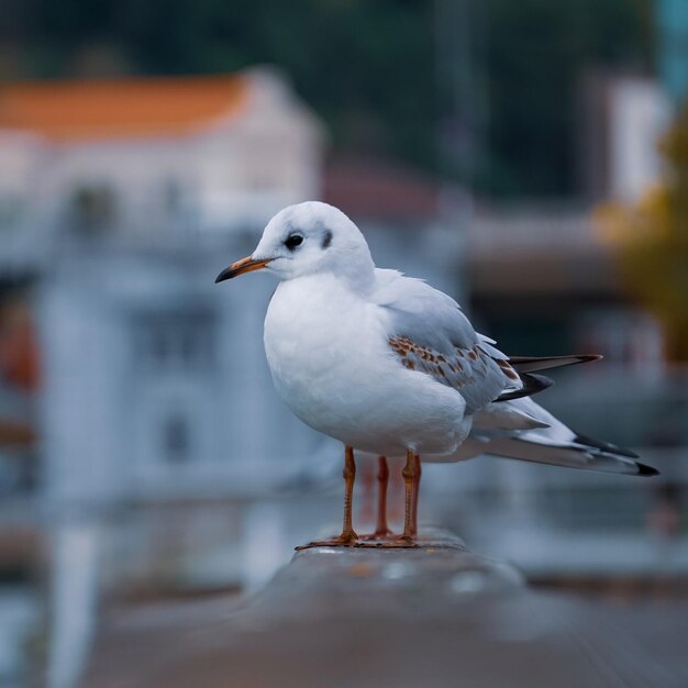
<path id="1" fill-rule="evenodd" d="M 358 228 L 334 206 L 307 201 L 280 210 L 253 254 L 222 270 L 215 282 L 266 269 L 280 279 L 329 273 L 366 286 L 374 268 Z"/>

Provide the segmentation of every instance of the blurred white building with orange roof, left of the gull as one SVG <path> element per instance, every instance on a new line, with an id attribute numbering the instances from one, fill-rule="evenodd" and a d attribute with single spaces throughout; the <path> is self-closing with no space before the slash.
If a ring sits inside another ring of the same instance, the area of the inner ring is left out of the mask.
<path id="1" fill-rule="evenodd" d="M 260 460 L 312 435 L 271 392 L 259 344 L 273 286 L 213 278 L 277 210 L 319 196 L 317 118 L 265 69 L 19 85 L 3 101 L 0 262 L 40 275 L 51 496 L 277 479 Z"/>

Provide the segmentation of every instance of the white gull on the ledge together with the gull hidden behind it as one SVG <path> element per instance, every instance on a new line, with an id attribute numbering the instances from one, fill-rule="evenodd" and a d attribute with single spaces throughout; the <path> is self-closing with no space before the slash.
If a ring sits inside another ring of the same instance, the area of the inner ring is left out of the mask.
<path id="1" fill-rule="evenodd" d="M 403 533 L 390 537 L 382 509 L 373 540 L 415 546 L 423 462 L 480 454 L 639 476 L 657 470 L 628 450 L 577 434 L 530 397 L 552 384 L 540 371 L 597 355 L 507 356 L 477 333 L 458 303 L 425 281 L 376 267 L 358 228 L 319 201 L 289 206 L 251 256 L 221 282 L 265 270 L 280 281 L 264 344 L 277 392 L 314 430 L 344 444 L 342 533 L 309 546 L 359 546 L 353 528 L 354 451 L 406 457 Z M 378 542 L 379 544 L 379 542 Z"/>

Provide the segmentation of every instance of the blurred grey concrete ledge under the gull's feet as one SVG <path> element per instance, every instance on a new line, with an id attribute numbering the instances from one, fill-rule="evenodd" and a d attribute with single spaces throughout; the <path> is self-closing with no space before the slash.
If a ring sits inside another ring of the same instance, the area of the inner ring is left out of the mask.
<path id="1" fill-rule="evenodd" d="M 623 612 L 532 591 L 509 565 L 433 532 L 415 550 L 299 552 L 240 606 L 228 598 L 113 613 L 84 685 L 685 686 L 681 633 L 668 617 L 630 623 Z M 674 618 L 685 629 L 685 613 Z"/>

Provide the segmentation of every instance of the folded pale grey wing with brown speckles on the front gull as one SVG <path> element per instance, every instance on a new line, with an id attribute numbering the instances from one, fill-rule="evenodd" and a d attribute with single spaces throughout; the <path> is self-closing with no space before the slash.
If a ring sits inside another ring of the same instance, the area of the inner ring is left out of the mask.
<path id="1" fill-rule="evenodd" d="M 393 270 L 377 274 L 375 300 L 387 314 L 389 346 L 401 365 L 455 389 L 467 413 L 522 387 L 508 357 L 473 329 L 454 299 Z"/>

